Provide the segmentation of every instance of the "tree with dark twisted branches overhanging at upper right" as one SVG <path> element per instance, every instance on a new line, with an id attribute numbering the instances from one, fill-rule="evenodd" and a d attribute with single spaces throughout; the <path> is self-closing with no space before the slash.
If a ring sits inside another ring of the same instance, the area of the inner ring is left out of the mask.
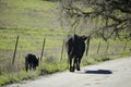
<path id="1" fill-rule="evenodd" d="M 95 21 L 97 27 L 91 36 L 131 39 L 131 0 L 60 0 L 60 5 L 62 25 L 64 20 L 75 30 Z"/>

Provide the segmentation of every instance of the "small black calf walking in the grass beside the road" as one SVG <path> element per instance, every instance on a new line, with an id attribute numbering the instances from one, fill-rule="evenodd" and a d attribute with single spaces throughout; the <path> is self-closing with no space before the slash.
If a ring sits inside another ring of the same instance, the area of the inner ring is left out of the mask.
<path id="1" fill-rule="evenodd" d="M 38 66 L 39 59 L 36 58 L 35 54 L 28 53 L 25 57 L 25 70 L 26 72 L 29 70 L 36 70 L 36 66 Z"/>

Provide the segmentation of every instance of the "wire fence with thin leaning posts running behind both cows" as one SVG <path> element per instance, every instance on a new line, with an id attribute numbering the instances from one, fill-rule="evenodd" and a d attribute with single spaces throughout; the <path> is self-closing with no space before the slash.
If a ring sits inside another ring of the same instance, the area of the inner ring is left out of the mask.
<path id="1" fill-rule="evenodd" d="M 0 73 L 24 70 L 24 58 L 27 53 L 36 54 L 37 58 L 40 58 L 40 63 L 43 63 L 45 58 L 50 57 L 59 61 L 67 60 L 62 37 L 17 36 L 10 37 L 10 39 L 3 38 L 0 44 Z M 131 41 L 91 39 L 87 57 L 119 54 L 126 51 L 128 52 L 130 49 Z"/>

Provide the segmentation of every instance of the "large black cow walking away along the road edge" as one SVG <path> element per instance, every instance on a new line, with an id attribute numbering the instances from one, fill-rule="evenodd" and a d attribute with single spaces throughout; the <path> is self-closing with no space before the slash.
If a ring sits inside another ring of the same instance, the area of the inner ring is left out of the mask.
<path id="1" fill-rule="evenodd" d="M 76 70 L 80 71 L 80 63 L 85 51 L 85 40 L 86 36 L 69 35 L 66 39 L 66 48 L 68 52 L 68 59 L 70 62 L 70 72 Z M 72 66 L 73 61 L 73 66 Z"/>

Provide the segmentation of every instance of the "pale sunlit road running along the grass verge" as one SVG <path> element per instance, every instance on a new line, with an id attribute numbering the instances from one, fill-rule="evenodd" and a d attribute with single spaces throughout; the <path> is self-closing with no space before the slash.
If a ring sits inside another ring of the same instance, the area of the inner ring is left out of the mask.
<path id="1" fill-rule="evenodd" d="M 88 65 L 75 73 L 67 71 L 5 87 L 131 87 L 131 57 Z"/>

